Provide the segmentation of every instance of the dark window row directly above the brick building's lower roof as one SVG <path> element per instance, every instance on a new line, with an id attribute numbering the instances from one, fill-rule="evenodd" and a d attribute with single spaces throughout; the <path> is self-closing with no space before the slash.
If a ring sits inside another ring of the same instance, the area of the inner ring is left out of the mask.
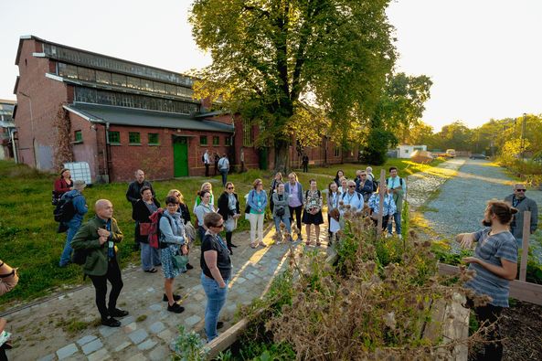
<path id="1" fill-rule="evenodd" d="M 199 111 L 199 104 L 193 102 L 171 101 L 169 99 L 147 97 L 138 94 L 125 94 L 82 87 L 76 87 L 75 101 L 181 114 L 190 114 Z"/>

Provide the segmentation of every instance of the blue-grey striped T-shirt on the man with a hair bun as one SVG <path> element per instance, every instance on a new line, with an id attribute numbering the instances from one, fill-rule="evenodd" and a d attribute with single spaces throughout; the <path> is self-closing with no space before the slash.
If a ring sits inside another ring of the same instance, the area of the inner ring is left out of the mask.
<path id="1" fill-rule="evenodd" d="M 487 263 L 502 267 L 501 259 L 517 263 L 517 244 L 512 233 L 505 231 L 490 236 L 491 228 L 484 228 L 474 234 L 477 240 L 474 257 Z M 487 294 L 494 306 L 508 307 L 510 281 L 486 270 L 478 263 L 471 263 L 469 270 L 476 271 L 473 280 L 465 283 L 465 287 L 473 289 L 477 295 Z"/>

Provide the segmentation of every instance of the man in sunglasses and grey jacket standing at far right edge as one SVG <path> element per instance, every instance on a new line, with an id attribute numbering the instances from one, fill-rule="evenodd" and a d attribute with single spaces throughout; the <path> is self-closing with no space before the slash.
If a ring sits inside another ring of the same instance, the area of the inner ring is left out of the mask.
<path id="1" fill-rule="evenodd" d="M 517 246 L 522 247 L 523 241 L 523 222 L 524 222 L 524 212 L 526 210 L 531 212 L 531 234 L 535 233 L 538 228 L 538 207 L 537 202 L 531 198 L 526 197 L 526 186 L 524 184 L 518 183 L 514 186 L 514 194 L 505 197 L 505 202 L 508 202 L 512 207 L 517 209 L 517 213 L 512 222 L 510 223 L 510 232 L 515 237 L 517 241 Z"/>

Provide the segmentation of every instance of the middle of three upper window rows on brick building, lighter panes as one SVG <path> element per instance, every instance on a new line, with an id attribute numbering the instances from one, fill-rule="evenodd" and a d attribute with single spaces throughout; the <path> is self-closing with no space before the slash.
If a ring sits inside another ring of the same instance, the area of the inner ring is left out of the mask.
<path id="1" fill-rule="evenodd" d="M 109 71 L 76 67 L 75 65 L 65 63 L 58 63 L 58 75 L 69 79 L 91 81 L 117 87 L 151 91 L 158 94 L 175 95 L 189 99 L 192 99 L 192 96 L 194 95 L 194 90 L 190 88 L 165 84 L 160 81 L 130 77 Z"/>

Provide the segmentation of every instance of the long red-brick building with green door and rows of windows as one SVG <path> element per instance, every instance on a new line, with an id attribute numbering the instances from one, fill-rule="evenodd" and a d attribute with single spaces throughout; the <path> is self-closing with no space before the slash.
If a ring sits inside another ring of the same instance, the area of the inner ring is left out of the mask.
<path id="1" fill-rule="evenodd" d="M 258 127 L 207 112 L 210 104 L 193 99 L 193 80 L 184 74 L 33 36 L 20 38 L 16 65 L 20 163 L 54 170 L 59 154 L 71 153 L 90 165 L 93 181 L 105 182 L 131 180 L 137 168 L 151 179 L 204 175 L 206 148 L 228 154 L 232 165 L 241 147 L 247 167 L 274 165 L 272 151 L 254 148 Z M 307 150 L 311 161 L 340 163 L 340 151 L 324 144 Z"/>

